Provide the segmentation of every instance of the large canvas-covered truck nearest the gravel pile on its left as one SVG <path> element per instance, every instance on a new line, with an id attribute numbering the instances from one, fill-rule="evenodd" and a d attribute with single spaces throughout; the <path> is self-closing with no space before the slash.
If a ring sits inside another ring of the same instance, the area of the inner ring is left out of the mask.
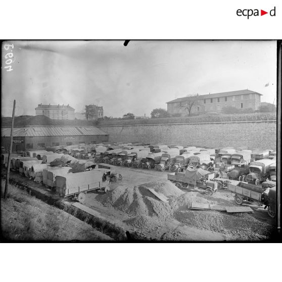
<path id="1" fill-rule="evenodd" d="M 107 181 L 103 181 L 103 172 L 90 170 L 67 175 L 56 176 L 56 192 L 60 197 L 85 202 L 86 194 L 93 190 L 105 189 Z"/>

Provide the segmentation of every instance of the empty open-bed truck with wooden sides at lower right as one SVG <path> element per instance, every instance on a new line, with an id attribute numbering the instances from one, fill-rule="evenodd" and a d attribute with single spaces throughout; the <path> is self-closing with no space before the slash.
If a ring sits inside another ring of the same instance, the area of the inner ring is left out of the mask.
<path id="1" fill-rule="evenodd" d="M 235 194 L 234 201 L 237 205 L 242 205 L 246 201 L 255 202 L 261 206 L 268 202 L 267 193 L 262 187 L 256 185 L 241 181 L 228 181 L 227 189 Z"/>

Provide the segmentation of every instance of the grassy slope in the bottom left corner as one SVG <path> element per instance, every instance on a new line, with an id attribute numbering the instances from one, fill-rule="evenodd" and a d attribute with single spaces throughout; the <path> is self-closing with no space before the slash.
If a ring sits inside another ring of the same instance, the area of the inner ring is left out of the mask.
<path id="1" fill-rule="evenodd" d="M 5 181 L 1 186 L 5 186 Z M 1 199 L 1 227 L 6 240 L 112 241 L 87 223 L 12 185 L 7 201 Z"/>

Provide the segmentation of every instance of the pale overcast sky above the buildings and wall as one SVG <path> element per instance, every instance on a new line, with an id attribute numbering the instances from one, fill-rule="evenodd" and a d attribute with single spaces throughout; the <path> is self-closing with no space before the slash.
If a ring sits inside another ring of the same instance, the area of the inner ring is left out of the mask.
<path id="1" fill-rule="evenodd" d="M 150 115 L 193 93 L 250 89 L 276 97 L 276 41 L 9 41 L 2 46 L 2 115 L 35 115 L 38 104 L 104 107 L 104 115 Z M 10 49 L 11 50 L 11 49 Z M 269 86 L 265 84 L 269 82 Z M 276 104 L 276 99 L 274 101 Z"/>

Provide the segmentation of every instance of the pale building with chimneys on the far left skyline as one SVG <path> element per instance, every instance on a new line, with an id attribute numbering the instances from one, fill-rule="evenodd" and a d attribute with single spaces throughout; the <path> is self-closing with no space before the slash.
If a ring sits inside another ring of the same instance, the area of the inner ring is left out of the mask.
<path id="1" fill-rule="evenodd" d="M 52 119 L 74 119 L 74 108 L 69 105 L 42 105 L 35 108 L 35 115 L 44 115 Z"/>

